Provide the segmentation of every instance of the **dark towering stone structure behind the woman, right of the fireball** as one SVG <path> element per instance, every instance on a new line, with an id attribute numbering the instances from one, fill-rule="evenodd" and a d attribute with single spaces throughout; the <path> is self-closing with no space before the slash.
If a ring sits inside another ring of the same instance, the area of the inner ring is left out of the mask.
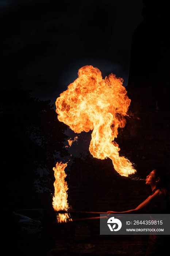
<path id="1" fill-rule="evenodd" d="M 139 169 L 170 169 L 170 49 L 167 3 L 143 1 L 144 21 L 134 31 L 127 89 L 131 118 L 122 133 Z M 139 170 L 140 171 L 140 170 Z M 142 170 L 141 170 L 142 171 Z"/>

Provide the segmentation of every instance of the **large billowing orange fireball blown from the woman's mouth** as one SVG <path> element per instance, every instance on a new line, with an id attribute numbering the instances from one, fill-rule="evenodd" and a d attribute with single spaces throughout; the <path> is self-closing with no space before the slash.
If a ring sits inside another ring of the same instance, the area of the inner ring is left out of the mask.
<path id="1" fill-rule="evenodd" d="M 113 74 L 103 79 L 98 68 L 86 65 L 55 102 L 58 120 L 75 133 L 92 130 L 90 153 L 95 158 L 112 159 L 122 176 L 136 172 L 127 158 L 119 156 L 119 145 L 114 142 L 118 128 L 126 123 L 131 102 L 126 94 L 123 79 Z"/>

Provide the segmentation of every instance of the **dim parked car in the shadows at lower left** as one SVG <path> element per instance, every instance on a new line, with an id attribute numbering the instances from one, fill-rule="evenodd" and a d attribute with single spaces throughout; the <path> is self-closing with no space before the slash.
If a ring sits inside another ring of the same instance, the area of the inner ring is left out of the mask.
<path id="1" fill-rule="evenodd" d="M 42 230 L 42 223 L 37 219 L 31 219 L 26 215 L 13 212 L 18 218 L 18 225 L 22 227 L 22 233 L 33 234 Z"/>

